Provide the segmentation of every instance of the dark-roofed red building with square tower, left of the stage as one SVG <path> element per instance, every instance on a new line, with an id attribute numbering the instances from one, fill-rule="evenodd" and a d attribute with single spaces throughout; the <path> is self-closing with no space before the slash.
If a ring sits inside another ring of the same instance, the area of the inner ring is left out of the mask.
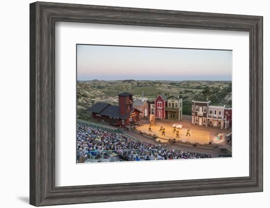
<path id="1" fill-rule="evenodd" d="M 133 107 L 133 94 L 127 92 L 118 94 L 118 103 L 117 106 L 99 102 L 90 107 L 88 111 L 96 120 L 123 128 L 139 121 L 141 112 Z"/>

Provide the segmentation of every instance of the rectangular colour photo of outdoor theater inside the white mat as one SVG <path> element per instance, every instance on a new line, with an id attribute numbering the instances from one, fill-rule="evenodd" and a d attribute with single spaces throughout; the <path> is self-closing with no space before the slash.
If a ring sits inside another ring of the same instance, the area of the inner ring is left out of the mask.
<path id="1" fill-rule="evenodd" d="M 232 157 L 232 51 L 77 44 L 77 163 Z"/>

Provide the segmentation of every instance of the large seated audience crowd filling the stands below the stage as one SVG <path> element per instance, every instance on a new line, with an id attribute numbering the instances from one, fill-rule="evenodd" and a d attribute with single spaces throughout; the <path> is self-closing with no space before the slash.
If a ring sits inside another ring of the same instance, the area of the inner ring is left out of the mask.
<path id="1" fill-rule="evenodd" d="M 170 150 L 167 146 L 131 139 L 121 133 L 78 123 L 77 161 L 140 161 L 210 158 L 209 154 Z"/>

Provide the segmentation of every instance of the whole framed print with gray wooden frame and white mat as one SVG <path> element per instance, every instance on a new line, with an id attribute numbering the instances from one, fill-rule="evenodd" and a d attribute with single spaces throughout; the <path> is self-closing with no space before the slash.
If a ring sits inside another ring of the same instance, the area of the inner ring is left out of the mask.
<path id="1" fill-rule="evenodd" d="M 263 18 L 30 4 L 30 204 L 263 190 Z"/>

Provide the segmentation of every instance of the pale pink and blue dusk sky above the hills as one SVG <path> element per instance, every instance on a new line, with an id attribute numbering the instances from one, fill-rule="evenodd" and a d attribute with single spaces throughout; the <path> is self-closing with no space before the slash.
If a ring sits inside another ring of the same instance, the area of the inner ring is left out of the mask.
<path id="1" fill-rule="evenodd" d="M 77 45 L 78 80 L 232 80 L 232 51 Z"/>

